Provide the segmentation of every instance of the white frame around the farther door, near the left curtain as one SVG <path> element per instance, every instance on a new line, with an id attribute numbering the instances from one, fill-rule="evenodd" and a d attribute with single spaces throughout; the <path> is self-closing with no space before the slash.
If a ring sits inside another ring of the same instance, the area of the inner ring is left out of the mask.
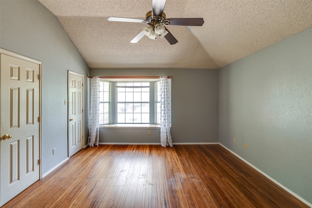
<path id="1" fill-rule="evenodd" d="M 69 156 L 69 75 L 76 75 L 82 77 L 82 149 L 84 148 L 84 75 L 78 74 L 76 72 L 72 72 L 68 70 L 67 74 L 67 156 Z"/>

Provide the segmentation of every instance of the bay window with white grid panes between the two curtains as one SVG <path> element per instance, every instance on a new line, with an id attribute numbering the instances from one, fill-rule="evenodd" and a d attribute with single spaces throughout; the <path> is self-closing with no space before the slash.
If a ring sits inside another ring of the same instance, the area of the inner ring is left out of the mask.
<path id="1" fill-rule="evenodd" d="M 100 80 L 99 125 L 160 124 L 160 81 Z"/>

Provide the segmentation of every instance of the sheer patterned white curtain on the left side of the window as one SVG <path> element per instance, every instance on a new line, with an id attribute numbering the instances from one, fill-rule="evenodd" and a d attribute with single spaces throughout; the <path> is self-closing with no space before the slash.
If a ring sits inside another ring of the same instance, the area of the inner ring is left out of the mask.
<path id="1" fill-rule="evenodd" d="M 91 79 L 90 90 L 90 117 L 89 117 L 89 140 L 90 147 L 98 146 L 98 116 L 99 116 L 99 77 Z"/>

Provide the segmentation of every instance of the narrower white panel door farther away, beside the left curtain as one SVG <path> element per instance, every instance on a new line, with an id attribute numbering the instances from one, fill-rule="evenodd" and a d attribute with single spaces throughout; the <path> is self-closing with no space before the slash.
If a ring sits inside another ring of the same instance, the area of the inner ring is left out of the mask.
<path id="1" fill-rule="evenodd" d="M 68 72 L 68 151 L 83 148 L 83 75 Z"/>

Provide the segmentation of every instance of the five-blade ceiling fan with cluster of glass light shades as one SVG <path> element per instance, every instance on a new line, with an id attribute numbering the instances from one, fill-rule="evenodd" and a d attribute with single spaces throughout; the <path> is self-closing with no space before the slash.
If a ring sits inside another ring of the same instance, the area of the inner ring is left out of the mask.
<path id="1" fill-rule="evenodd" d="M 109 17 L 109 21 L 121 21 L 121 22 L 138 22 L 146 23 L 148 26 L 144 27 L 135 38 L 130 42 L 137 43 L 141 38 L 147 36 L 151 39 L 156 39 L 157 36 L 160 38 L 166 38 L 167 41 L 173 45 L 177 43 L 177 39 L 169 32 L 165 27 L 168 25 L 179 25 L 179 26 L 202 26 L 204 23 L 203 18 L 177 18 L 177 19 L 166 19 L 166 14 L 163 12 L 165 8 L 166 0 L 152 0 L 152 11 L 149 11 L 145 19 L 131 19 L 131 18 L 115 18 Z"/>

